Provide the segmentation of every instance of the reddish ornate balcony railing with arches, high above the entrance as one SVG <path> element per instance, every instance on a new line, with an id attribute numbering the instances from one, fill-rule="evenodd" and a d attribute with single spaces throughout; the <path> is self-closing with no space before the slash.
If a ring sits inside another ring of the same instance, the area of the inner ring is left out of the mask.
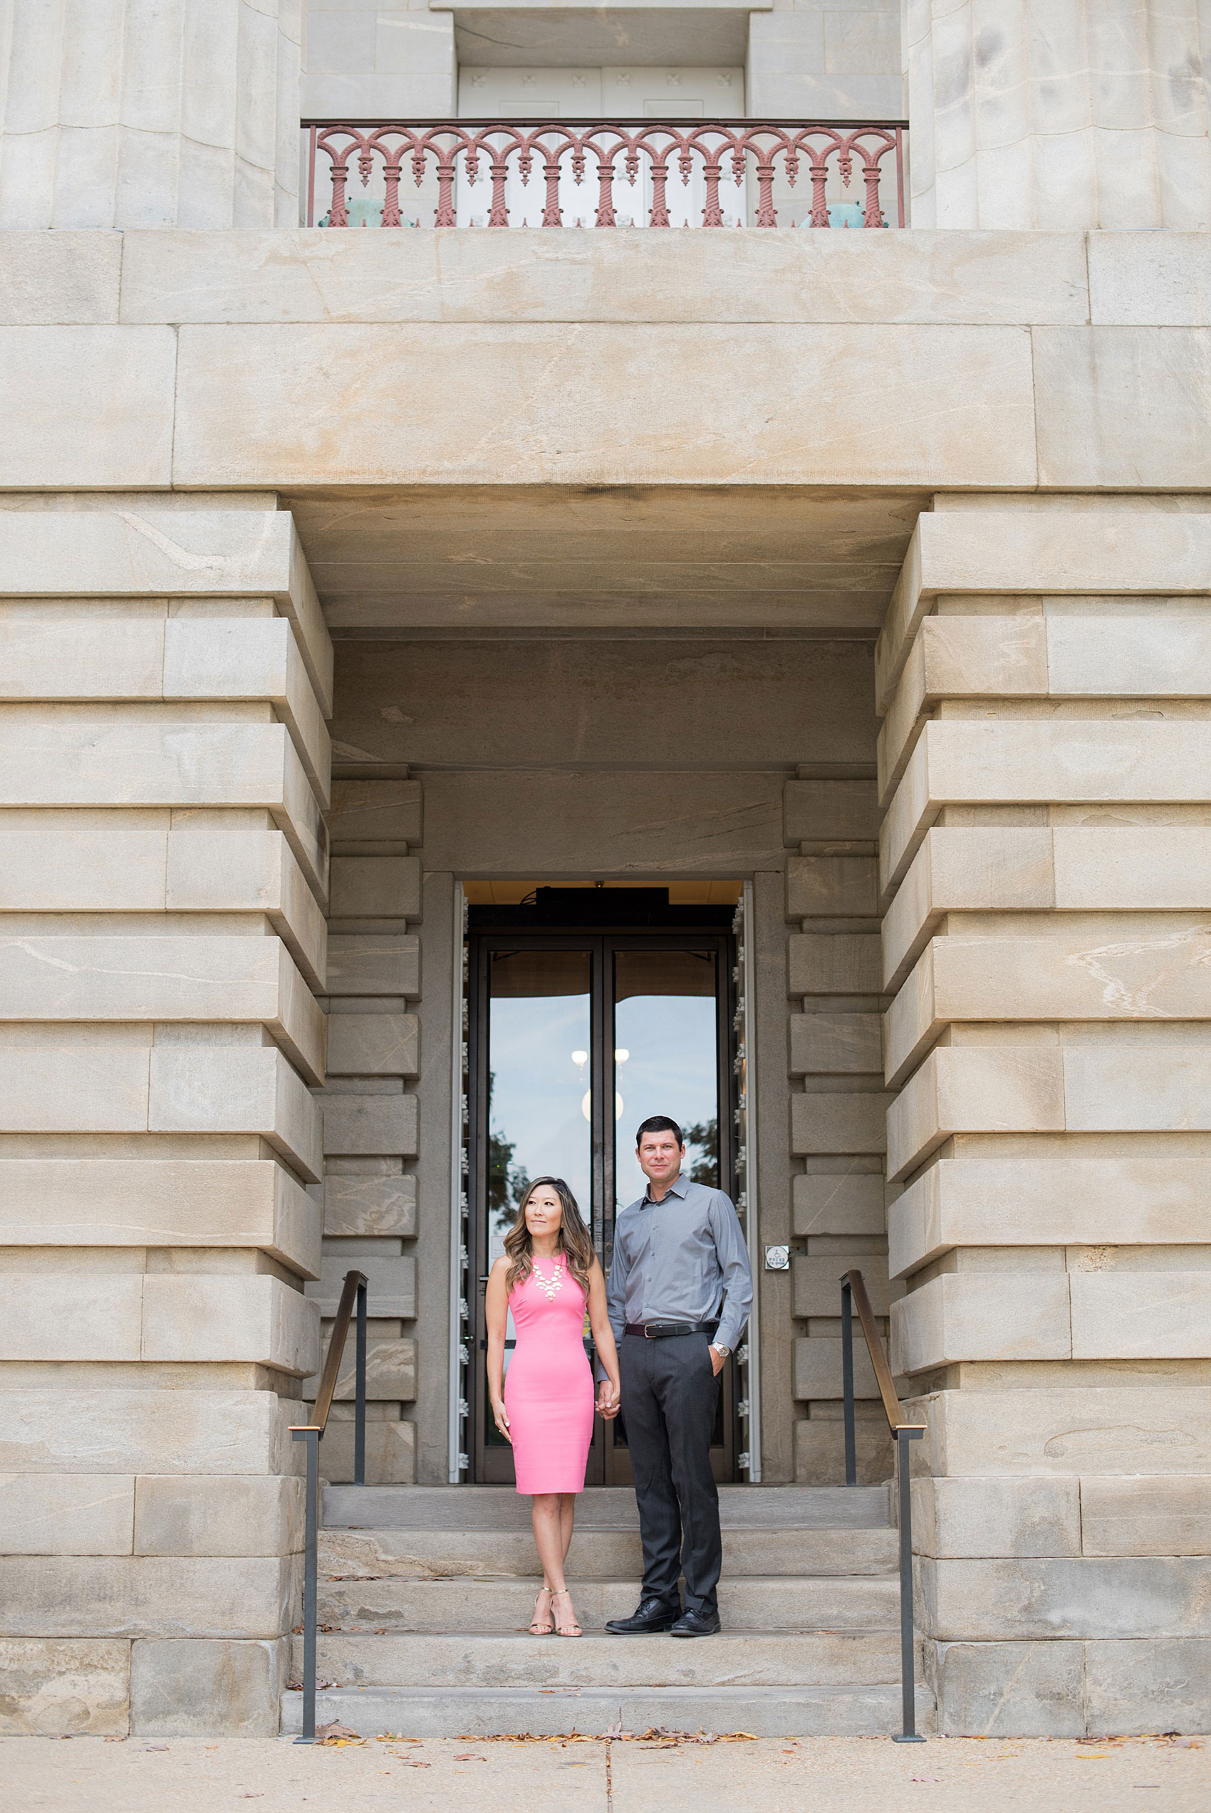
<path id="1" fill-rule="evenodd" d="M 905 225 L 906 123 L 305 120 L 308 227 Z"/>

